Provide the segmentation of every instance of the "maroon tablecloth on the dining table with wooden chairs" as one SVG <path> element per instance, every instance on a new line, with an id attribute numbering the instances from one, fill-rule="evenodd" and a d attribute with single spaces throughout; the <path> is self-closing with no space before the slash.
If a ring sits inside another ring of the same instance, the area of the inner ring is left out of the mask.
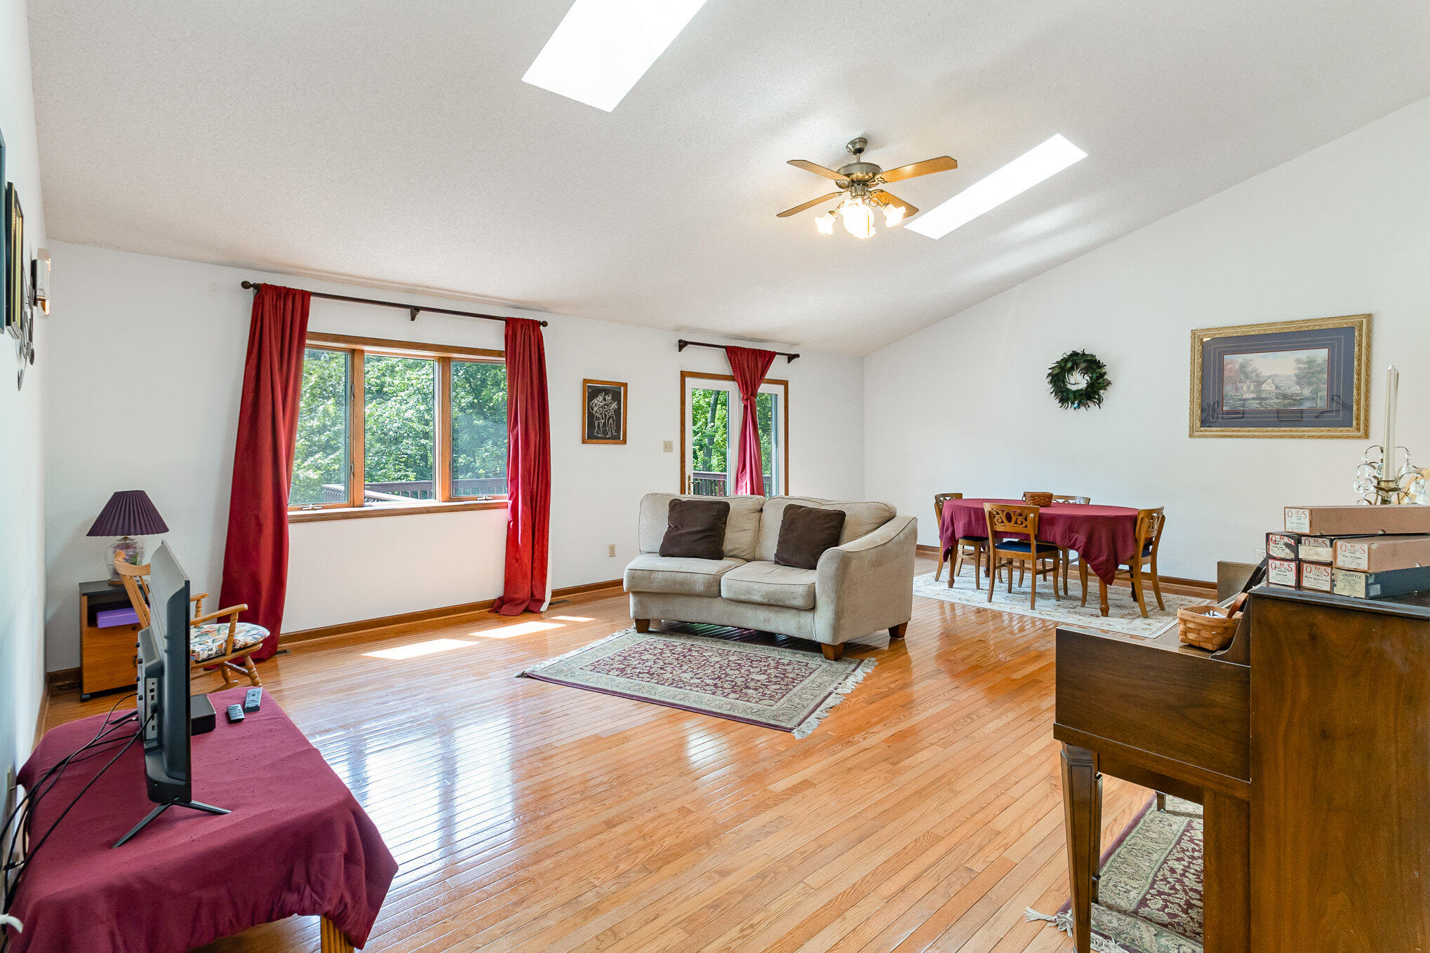
<path id="1" fill-rule="evenodd" d="M 987 536 L 984 503 L 1022 500 L 947 500 L 938 522 L 938 540 L 948 552 L 960 536 Z M 1074 550 L 1078 559 L 1105 583 L 1117 567 L 1137 554 L 1137 510 L 1128 506 L 1054 503 L 1038 510 L 1038 539 Z"/>

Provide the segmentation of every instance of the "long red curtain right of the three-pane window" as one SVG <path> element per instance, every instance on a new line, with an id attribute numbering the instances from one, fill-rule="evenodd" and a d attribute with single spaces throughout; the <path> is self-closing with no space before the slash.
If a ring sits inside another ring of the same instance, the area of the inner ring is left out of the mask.
<path id="1" fill-rule="evenodd" d="M 506 584 L 492 612 L 546 607 L 551 411 L 541 321 L 506 319 Z"/>

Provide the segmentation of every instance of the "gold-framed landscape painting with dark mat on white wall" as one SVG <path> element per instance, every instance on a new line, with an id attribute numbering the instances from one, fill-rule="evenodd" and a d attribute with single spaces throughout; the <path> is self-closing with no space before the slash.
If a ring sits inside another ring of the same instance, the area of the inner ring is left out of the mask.
<path id="1" fill-rule="evenodd" d="M 1191 333 L 1193 437 L 1370 436 L 1370 314 Z"/>

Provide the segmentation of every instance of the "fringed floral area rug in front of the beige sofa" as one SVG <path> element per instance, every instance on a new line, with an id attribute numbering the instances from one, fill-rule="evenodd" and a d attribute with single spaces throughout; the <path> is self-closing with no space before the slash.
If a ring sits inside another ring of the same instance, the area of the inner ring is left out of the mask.
<path id="1" fill-rule="evenodd" d="M 874 667 L 811 650 L 626 629 L 521 676 L 805 737 Z"/>

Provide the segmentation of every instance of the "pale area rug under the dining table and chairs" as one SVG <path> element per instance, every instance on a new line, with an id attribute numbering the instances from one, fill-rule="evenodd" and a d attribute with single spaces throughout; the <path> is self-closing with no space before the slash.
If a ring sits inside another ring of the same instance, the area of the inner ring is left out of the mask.
<path id="1" fill-rule="evenodd" d="M 948 572 L 948 567 L 944 567 Z M 1060 624 L 1083 626 L 1087 629 L 1103 629 L 1105 632 L 1120 632 L 1127 636 L 1150 639 L 1160 633 L 1167 624 L 1177 620 L 1177 610 L 1183 606 L 1207 603 L 1207 599 L 1194 596 L 1173 596 L 1163 593 L 1163 603 L 1167 609 L 1157 609 L 1151 586 L 1147 587 L 1147 619 L 1143 619 L 1133 590 L 1124 586 L 1107 587 L 1107 616 L 1097 607 L 1097 577 L 1088 574 L 1087 606 L 1081 606 L 1083 589 L 1074 577 L 1070 580 L 1070 594 L 1061 600 L 1052 599 L 1052 583 L 1047 577 L 1038 580 L 1038 606 L 1028 609 L 1028 584 L 1032 573 L 1027 573 L 1022 586 L 1014 586 L 1008 592 L 1007 582 L 994 586 L 992 602 L 988 602 L 988 579 L 984 577 L 982 589 L 974 587 L 972 566 L 965 566 L 964 572 L 954 577 L 952 589 L 948 587 L 948 576 L 935 580 L 932 573 L 914 579 L 914 594 L 925 599 L 940 599 L 964 606 L 978 606 L 980 609 L 997 609 L 1011 612 L 1018 616 L 1034 616 Z"/>

